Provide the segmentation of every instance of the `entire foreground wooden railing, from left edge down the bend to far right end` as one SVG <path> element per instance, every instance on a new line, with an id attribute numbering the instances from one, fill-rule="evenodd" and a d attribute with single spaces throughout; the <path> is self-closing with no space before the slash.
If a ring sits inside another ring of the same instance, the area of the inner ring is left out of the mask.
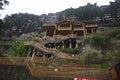
<path id="1" fill-rule="evenodd" d="M 30 58 L 0 58 L 2 65 L 27 65 L 31 74 L 38 77 L 96 78 L 111 80 L 109 69 L 78 67 L 41 67 Z"/>

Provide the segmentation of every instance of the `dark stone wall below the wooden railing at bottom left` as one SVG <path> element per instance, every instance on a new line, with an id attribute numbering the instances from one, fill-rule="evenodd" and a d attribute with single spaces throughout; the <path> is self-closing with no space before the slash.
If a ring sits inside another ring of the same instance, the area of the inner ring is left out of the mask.
<path id="1" fill-rule="evenodd" d="M 73 80 L 70 78 L 34 77 L 26 66 L 0 65 L 0 80 Z"/>

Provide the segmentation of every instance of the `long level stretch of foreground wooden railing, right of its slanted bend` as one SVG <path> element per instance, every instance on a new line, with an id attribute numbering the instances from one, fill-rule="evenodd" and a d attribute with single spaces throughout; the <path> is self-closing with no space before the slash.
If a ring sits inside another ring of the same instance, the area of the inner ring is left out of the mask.
<path id="1" fill-rule="evenodd" d="M 35 68 L 35 76 L 44 77 L 82 77 L 82 78 L 98 78 L 108 79 L 109 72 L 103 69 L 79 69 L 79 68 Z"/>

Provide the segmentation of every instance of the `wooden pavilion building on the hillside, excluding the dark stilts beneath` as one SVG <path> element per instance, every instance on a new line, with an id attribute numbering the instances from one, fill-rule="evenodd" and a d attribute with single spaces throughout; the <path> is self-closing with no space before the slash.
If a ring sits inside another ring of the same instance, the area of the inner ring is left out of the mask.
<path id="1" fill-rule="evenodd" d="M 86 34 L 92 34 L 96 32 L 97 26 L 90 23 L 82 23 L 78 21 L 60 21 L 57 23 L 47 23 L 43 24 L 45 27 L 46 36 L 55 37 L 56 35 L 77 35 L 77 36 L 85 36 Z"/>

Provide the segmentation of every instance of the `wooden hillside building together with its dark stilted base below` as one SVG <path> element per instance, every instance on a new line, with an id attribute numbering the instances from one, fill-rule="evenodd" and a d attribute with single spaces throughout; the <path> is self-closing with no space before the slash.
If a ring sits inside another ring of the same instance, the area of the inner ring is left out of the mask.
<path id="1" fill-rule="evenodd" d="M 57 23 L 47 23 L 45 27 L 45 37 L 49 41 L 47 47 L 55 48 L 59 44 L 69 48 L 78 48 L 78 36 L 86 36 L 96 32 L 97 26 L 92 23 L 82 23 L 79 21 L 60 21 Z"/>

